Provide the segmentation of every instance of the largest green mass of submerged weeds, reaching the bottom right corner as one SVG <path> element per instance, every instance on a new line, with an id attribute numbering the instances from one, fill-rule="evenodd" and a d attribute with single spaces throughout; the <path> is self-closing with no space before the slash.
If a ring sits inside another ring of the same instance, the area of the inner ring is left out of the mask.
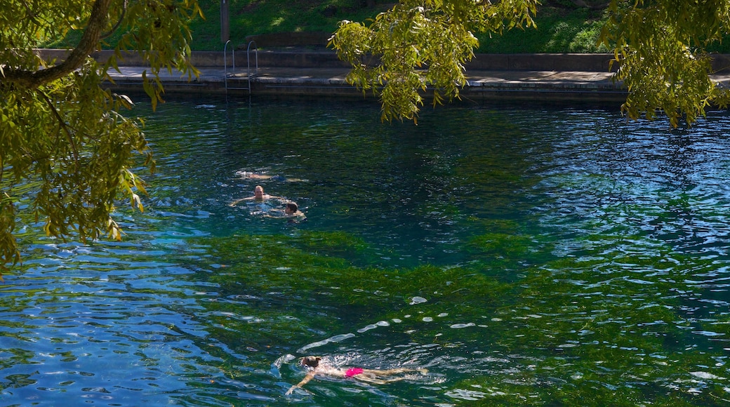
<path id="1" fill-rule="evenodd" d="M 288 352 L 296 352 L 320 340 L 322 332 L 349 333 L 353 323 L 371 321 L 363 329 L 379 330 L 390 343 L 453 349 L 464 355 L 465 368 L 493 373 L 456 384 L 475 389 L 475 400 L 691 406 L 728 399 L 726 369 L 712 350 L 712 336 L 698 341 L 698 333 L 726 336 L 730 324 L 704 326 L 702 318 L 688 314 L 685 300 L 694 287 L 675 278 L 685 272 L 677 264 L 697 267 L 696 261 L 665 248 L 656 257 L 614 257 L 623 267 L 612 268 L 602 254 L 612 250 L 609 242 L 638 236 L 590 237 L 583 256 L 553 260 L 546 260 L 553 257 L 548 250 L 530 254 L 527 242 L 534 236 L 476 238 L 487 243 L 490 257 L 500 256 L 494 247 L 509 247 L 501 255 L 535 264 L 520 271 L 517 281 L 494 273 L 495 263 L 479 261 L 356 265 L 352 259 L 368 256 L 369 247 L 339 232 L 205 239 L 201 244 L 214 248 L 210 254 L 226 264 L 210 276 L 226 298 L 254 307 L 258 298 L 280 298 L 278 305 L 255 307 L 255 320 L 232 318 L 237 302 L 207 308 L 215 325 L 236 333 L 230 346 L 243 336 L 255 349 L 288 342 Z M 637 275 L 626 265 L 634 265 Z M 513 371 L 515 358 L 520 368 Z"/>

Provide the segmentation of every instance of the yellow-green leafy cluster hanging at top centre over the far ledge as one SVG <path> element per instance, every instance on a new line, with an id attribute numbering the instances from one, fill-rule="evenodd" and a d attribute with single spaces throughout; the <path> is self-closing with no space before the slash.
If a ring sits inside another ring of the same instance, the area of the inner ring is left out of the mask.
<path id="1" fill-rule="evenodd" d="M 404 0 L 369 26 L 343 21 L 330 44 L 353 66 L 348 82 L 380 92 L 384 120 L 415 120 L 429 86 L 434 104 L 458 98 L 464 63 L 479 46 L 474 31 L 534 26 L 536 7 L 534 0 Z"/>

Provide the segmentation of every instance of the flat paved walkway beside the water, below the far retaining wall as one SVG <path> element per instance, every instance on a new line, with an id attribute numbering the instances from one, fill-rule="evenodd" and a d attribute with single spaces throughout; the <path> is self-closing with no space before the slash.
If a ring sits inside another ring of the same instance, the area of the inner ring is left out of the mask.
<path id="1" fill-rule="evenodd" d="M 167 93 L 228 93 L 238 95 L 357 96 L 361 90 L 347 84 L 347 68 L 264 67 L 226 72 L 223 68 L 200 68 L 198 78 L 161 72 Z M 120 66 L 112 71 L 112 88 L 141 88 L 144 67 Z M 461 91 L 469 98 L 527 98 L 535 100 L 619 101 L 626 98 L 621 84 L 610 72 L 595 71 L 466 71 L 467 85 Z"/>

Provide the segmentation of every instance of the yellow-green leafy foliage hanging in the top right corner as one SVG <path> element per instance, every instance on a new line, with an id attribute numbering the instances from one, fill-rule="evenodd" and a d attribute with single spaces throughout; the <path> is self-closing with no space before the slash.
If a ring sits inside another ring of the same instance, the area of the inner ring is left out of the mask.
<path id="1" fill-rule="evenodd" d="M 673 126 L 684 116 L 692 123 L 710 104 L 725 107 L 726 88 L 708 74 L 705 49 L 719 42 L 730 26 L 730 2 L 614 0 L 602 41 L 613 44 L 621 69 L 615 76 L 629 89 L 622 109 L 629 117 L 656 117 L 659 109 Z"/>

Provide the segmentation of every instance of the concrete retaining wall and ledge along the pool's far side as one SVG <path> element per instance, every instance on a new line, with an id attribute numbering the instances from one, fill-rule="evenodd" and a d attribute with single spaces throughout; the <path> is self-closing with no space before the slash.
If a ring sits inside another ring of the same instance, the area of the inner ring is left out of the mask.
<path id="1" fill-rule="evenodd" d="M 38 50 L 46 60 L 65 58 L 66 50 Z M 112 51 L 92 56 L 105 61 Z M 161 72 L 166 93 L 231 96 L 323 96 L 375 98 L 372 92 L 349 85 L 349 67 L 333 51 L 246 50 L 193 52 L 200 70 L 189 79 L 179 72 Z M 730 66 L 730 55 L 713 55 L 713 66 Z M 467 83 L 461 97 L 470 100 L 621 102 L 626 88 L 612 80 L 612 54 L 477 54 L 466 66 Z M 136 54 L 127 54 L 119 71 L 111 71 L 114 90 L 141 90 L 142 73 L 148 70 Z M 717 82 L 730 82 L 730 74 L 713 74 Z M 426 97 L 433 91 L 426 92 Z"/>

